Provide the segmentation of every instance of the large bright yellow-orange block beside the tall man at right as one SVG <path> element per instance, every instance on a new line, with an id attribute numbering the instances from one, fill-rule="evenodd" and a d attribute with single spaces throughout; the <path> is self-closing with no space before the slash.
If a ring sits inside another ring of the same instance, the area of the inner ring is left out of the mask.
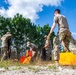
<path id="1" fill-rule="evenodd" d="M 72 52 L 60 53 L 60 65 L 76 65 L 76 54 Z"/>

